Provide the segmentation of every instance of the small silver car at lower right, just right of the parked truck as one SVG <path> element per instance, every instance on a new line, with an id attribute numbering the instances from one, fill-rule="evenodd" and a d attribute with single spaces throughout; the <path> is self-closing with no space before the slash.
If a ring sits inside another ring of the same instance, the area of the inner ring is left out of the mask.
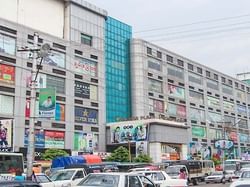
<path id="1" fill-rule="evenodd" d="M 223 171 L 216 171 L 211 175 L 205 177 L 205 182 L 208 183 L 223 183 L 225 184 L 226 181 L 231 182 L 232 178 L 231 175 L 223 172 Z"/>

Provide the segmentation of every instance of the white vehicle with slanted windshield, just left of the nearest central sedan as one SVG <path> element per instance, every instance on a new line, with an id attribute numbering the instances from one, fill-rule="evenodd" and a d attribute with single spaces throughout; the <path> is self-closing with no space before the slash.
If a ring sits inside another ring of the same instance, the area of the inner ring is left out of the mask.
<path id="1" fill-rule="evenodd" d="M 55 187 L 69 187 L 77 185 L 86 175 L 83 168 L 60 169 L 52 172 L 50 179 Z"/>

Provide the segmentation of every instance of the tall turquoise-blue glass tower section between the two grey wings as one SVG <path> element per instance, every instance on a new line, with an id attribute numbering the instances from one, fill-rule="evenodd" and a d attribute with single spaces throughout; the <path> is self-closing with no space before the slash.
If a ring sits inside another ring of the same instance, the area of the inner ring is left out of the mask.
<path id="1" fill-rule="evenodd" d="M 131 117 L 130 52 L 132 27 L 108 17 L 105 27 L 106 120 Z"/>

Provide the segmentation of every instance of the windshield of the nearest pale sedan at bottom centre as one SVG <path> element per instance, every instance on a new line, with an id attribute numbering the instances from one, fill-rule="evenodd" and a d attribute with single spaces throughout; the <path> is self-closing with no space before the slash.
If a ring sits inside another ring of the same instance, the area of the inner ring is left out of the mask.
<path id="1" fill-rule="evenodd" d="M 119 175 L 96 175 L 89 174 L 83 179 L 78 186 L 105 186 L 105 187 L 118 187 Z"/>

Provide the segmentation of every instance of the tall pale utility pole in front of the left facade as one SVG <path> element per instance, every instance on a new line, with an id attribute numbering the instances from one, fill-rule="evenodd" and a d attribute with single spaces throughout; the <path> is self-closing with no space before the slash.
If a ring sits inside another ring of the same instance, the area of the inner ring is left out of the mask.
<path id="1" fill-rule="evenodd" d="M 35 152 L 35 109 L 36 109 L 36 76 L 37 76 L 37 44 L 38 44 L 38 33 L 34 33 L 33 43 L 33 56 L 32 56 L 32 72 L 31 72 L 31 85 L 30 85 L 30 123 L 29 123 L 29 143 L 27 152 L 27 178 L 32 177 L 33 173 L 33 162 Z"/>

